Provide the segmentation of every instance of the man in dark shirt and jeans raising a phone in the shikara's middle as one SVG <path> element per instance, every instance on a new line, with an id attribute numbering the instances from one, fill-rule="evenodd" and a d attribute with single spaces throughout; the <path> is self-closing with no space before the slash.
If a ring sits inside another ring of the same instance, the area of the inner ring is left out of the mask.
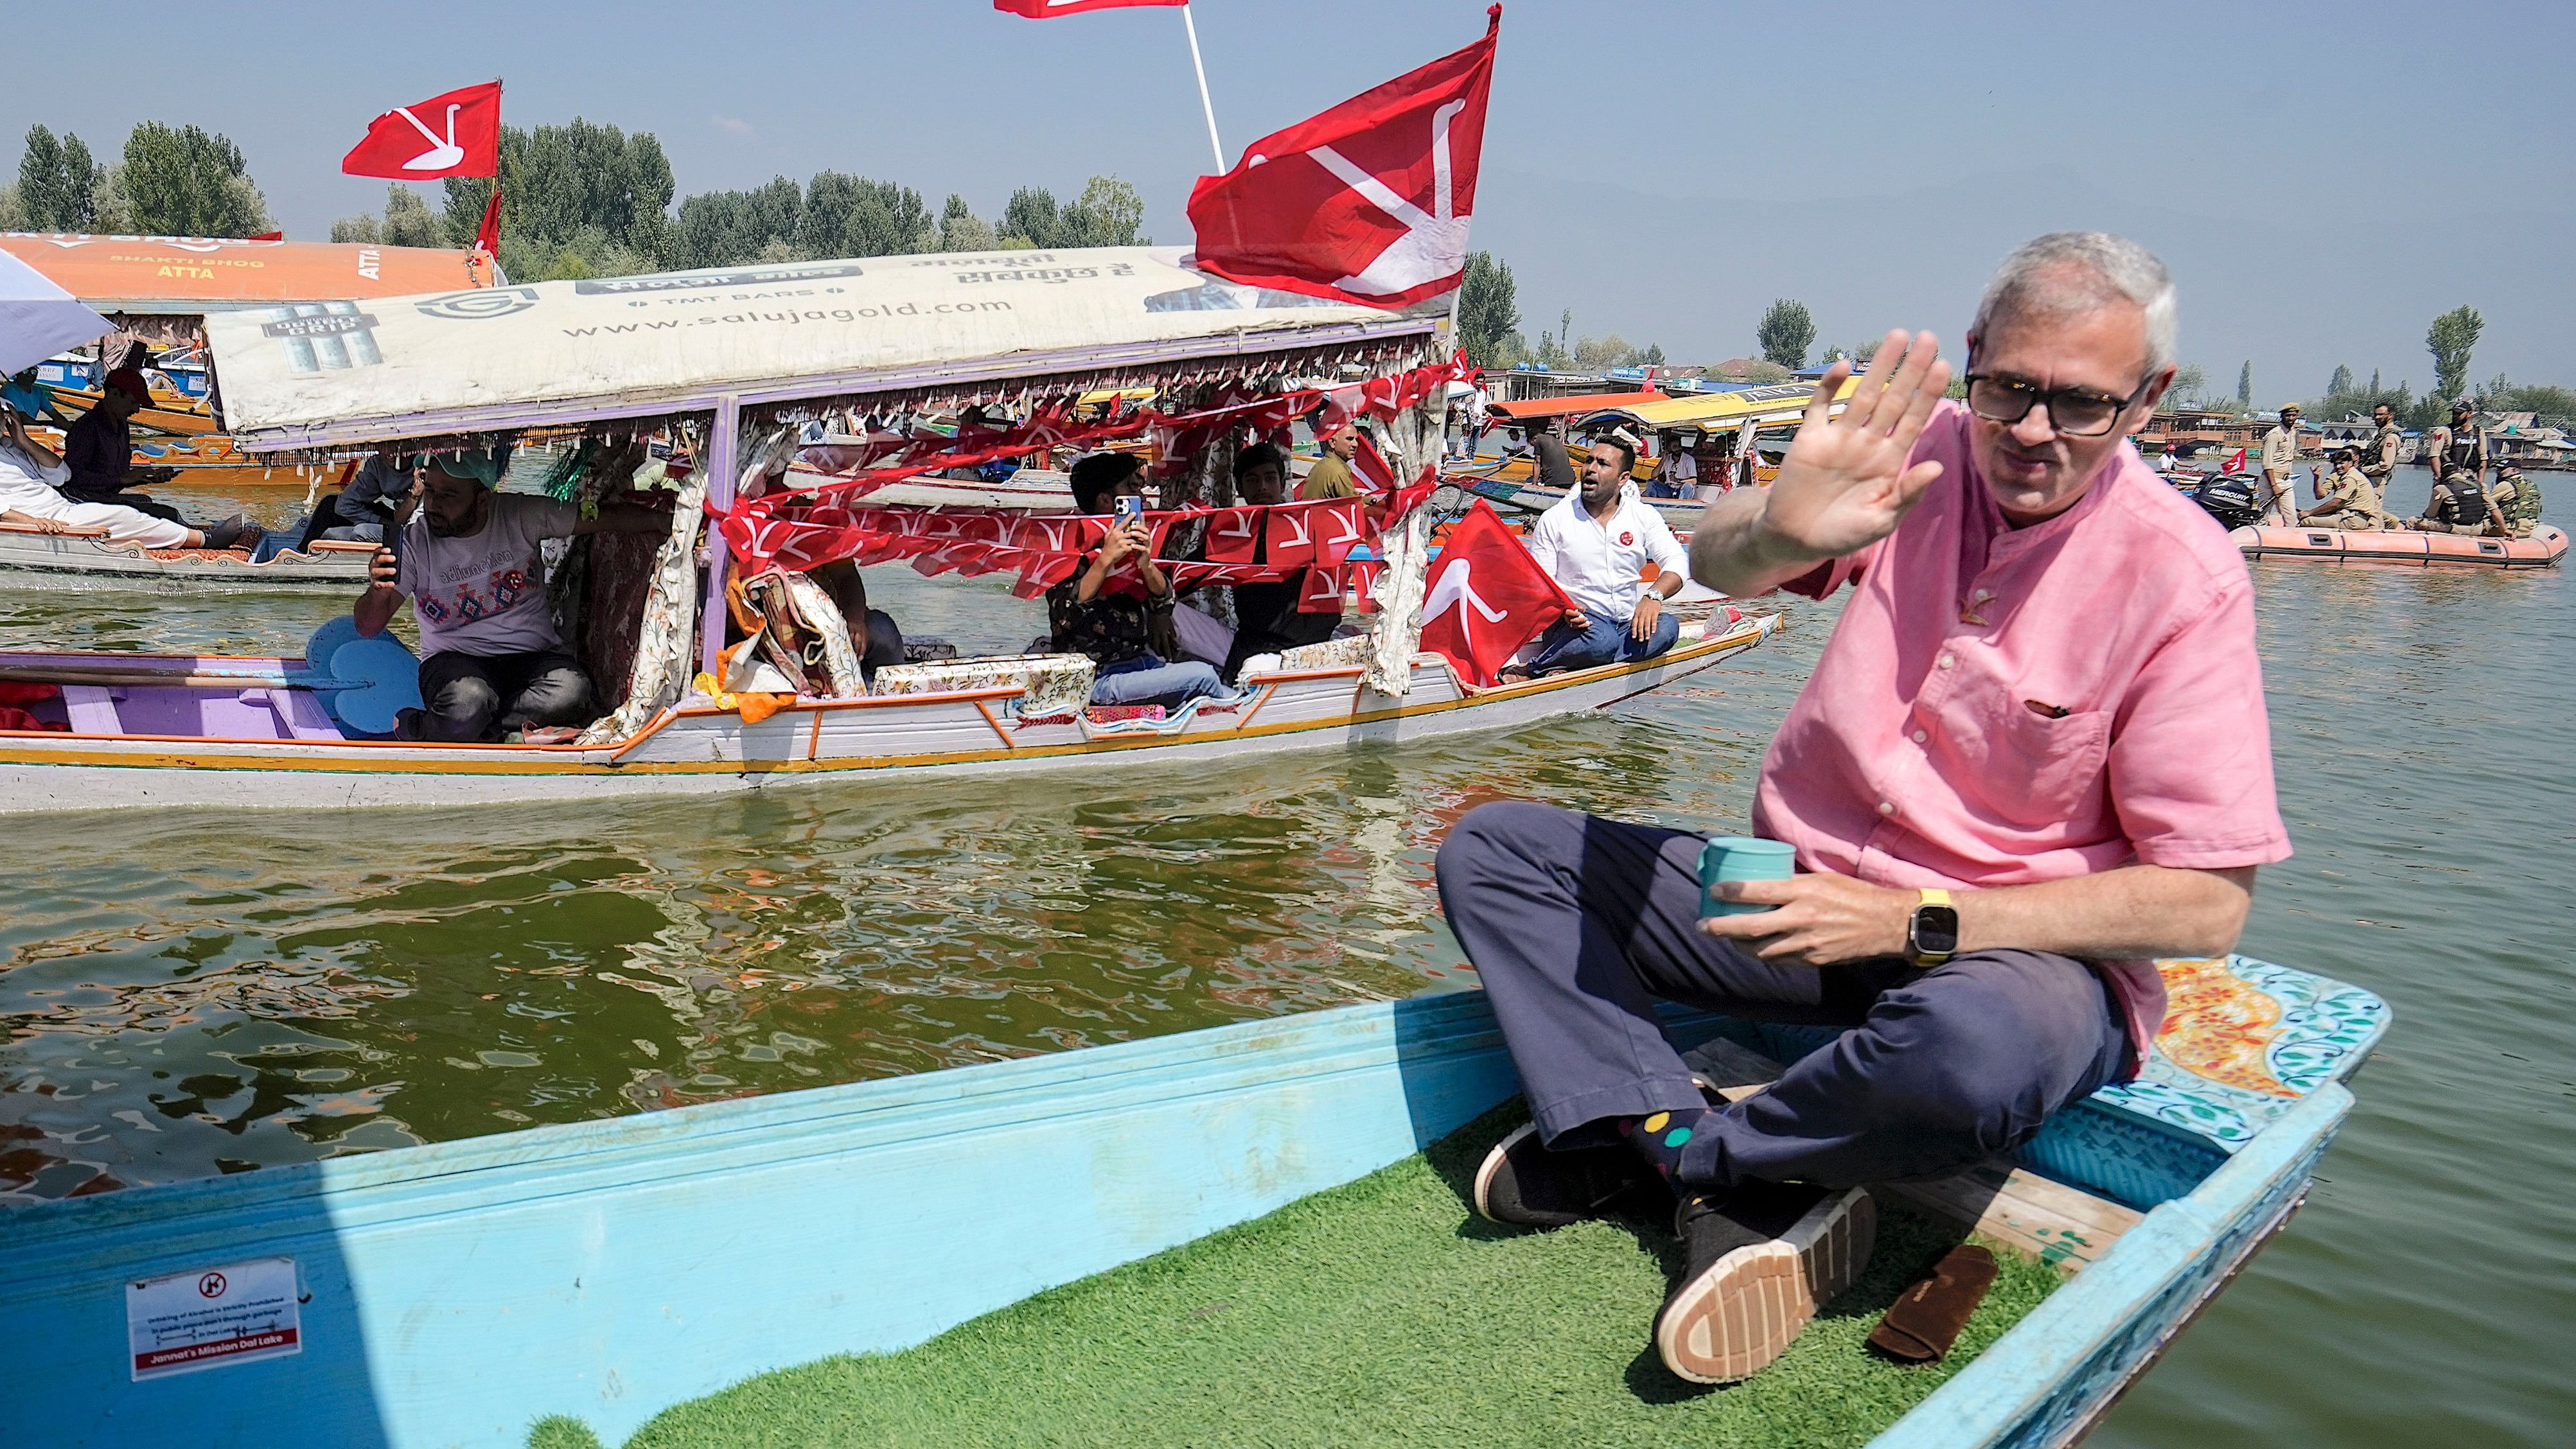
<path id="1" fill-rule="evenodd" d="M 1115 497 L 1144 497 L 1144 458 L 1092 453 L 1074 463 L 1074 510 L 1110 515 Z M 1133 564 L 1144 597 L 1113 589 L 1110 577 Z M 1100 548 L 1072 579 L 1046 589 L 1046 623 L 1056 654 L 1090 654 L 1095 705 L 1185 705 L 1195 697 L 1231 700 L 1234 690 L 1211 664 L 1180 656 L 1172 628 L 1172 577 L 1154 566 L 1154 530 L 1110 520 Z"/>

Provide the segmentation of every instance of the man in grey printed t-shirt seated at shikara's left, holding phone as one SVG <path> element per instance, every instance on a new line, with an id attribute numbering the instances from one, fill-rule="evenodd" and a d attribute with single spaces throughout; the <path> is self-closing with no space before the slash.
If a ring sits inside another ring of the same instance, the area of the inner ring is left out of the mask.
<path id="1" fill-rule="evenodd" d="M 420 507 L 402 525 L 402 553 L 379 548 L 350 618 L 374 636 L 404 595 L 420 620 L 420 718 L 404 739 L 497 741 L 590 721 L 590 677 L 564 651 L 546 607 L 546 538 L 580 533 L 670 533 L 670 515 L 495 494 L 510 450 L 440 453 L 420 474 Z"/>

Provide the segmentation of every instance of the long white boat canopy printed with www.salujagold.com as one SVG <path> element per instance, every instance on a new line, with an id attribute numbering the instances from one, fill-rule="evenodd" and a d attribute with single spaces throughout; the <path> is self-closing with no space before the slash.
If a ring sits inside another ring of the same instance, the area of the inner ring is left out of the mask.
<path id="1" fill-rule="evenodd" d="M 1255 355 L 1309 371 L 1391 347 L 1427 358 L 1445 317 L 1445 301 L 1381 311 L 1236 286 L 1185 257 L 933 252 L 549 281 L 234 311 L 209 317 L 206 345 L 227 427 L 278 453 L 868 394 L 1213 381 L 1229 373 L 1216 363 Z"/>

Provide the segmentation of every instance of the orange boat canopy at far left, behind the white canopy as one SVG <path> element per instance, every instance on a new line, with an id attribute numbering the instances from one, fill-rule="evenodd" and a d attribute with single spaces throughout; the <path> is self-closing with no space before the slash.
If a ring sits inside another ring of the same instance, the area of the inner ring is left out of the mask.
<path id="1" fill-rule="evenodd" d="M 492 286 L 489 263 L 443 247 L 5 232 L 0 250 L 98 311 L 129 314 L 196 317 Z"/>

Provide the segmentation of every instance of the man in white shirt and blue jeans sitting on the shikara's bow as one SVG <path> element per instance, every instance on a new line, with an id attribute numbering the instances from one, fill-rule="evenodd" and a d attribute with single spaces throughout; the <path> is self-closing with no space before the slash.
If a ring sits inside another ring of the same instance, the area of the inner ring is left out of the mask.
<path id="1" fill-rule="evenodd" d="M 1530 528 L 1530 556 L 1577 607 L 1538 636 L 1538 651 L 1507 667 L 1504 677 L 1654 659 L 1682 636 L 1682 625 L 1664 613 L 1664 600 L 1682 592 L 1682 543 L 1664 515 L 1636 497 L 1628 481 L 1633 466 L 1636 440 L 1625 432 L 1592 443 L 1582 486 Z M 1656 566 L 1651 587 L 1646 561 Z"/>

